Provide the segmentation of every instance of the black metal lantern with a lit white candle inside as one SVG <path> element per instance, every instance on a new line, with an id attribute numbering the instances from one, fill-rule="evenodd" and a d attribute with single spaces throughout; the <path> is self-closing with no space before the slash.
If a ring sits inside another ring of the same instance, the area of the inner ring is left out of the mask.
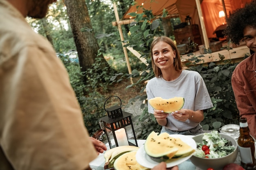
<path id="1" fill-rule="evenodd" d="M 111 97 L 119 98 L 118 96 L 110 96 L 109 98 Z M 120 106 L 116 105 L 106 109 L 105 104 L 107 100 L 104 103 L 104 109 L 108 113 L 108 116 L 101 118 L 101 120 L 104 123 L 105 133 L 108 137 L 110 149 L 126 145 L 138 146 L 132 125 L 132 114 L 122 111 L 122 102 L 120 98 Z"/>

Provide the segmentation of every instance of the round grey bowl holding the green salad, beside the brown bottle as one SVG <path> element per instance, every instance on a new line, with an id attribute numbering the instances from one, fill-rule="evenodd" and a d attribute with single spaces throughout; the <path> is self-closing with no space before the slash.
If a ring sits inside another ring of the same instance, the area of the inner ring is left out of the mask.
<path id="1" fill-rule="evenodd" d="M 211 133 L 213 133 L 213 132 L 211 132 Z M 218 157 L 218 153 L 217 153 L 216 154 L 217 158 L 199 157 L 199 156 L 196 156 L 197 153 L 195 152 L 192 155 L 192 157 L 190 158 L 190 161 L 198 168 L 201 168 L 202 170 L 207 170 L 208 168 L 213 168 L 214 170 L 222 170 L 222 168 L 225 165 L 227 165 L 229 163 L 234 163 L 236 161 L 236 157 L 238 155 L 238 144 L 237 144 L 236 140 L 227 134 L 224 134 L 224 133 L 218 133 L 218 134 L 220 135 L 220 137 L 225 138 L 228 141 L 229 146 L 234 146 L 234 149 L 233 149 L 234 151 L 232 151 L 228 155 L 225 155 L 222 157 Z M 203 137 L 204 137 L 204 133 L 194 136 L 193 139 L 195 140 L 196 143 L 201 144 L 203 142 L 203 139 L 202 139 Z M 205 137 L 204 137 L 204 139 L 205 139 Z M 213 141 L 210 141 L 210 143 L 212 145 L 216 145 L 216 144 L 214 144 Z M 210 155 L 211 155 L 211 153 L 210 153 Z M 209 157 L 210 157 L 210 155 L 209 155 Z"/>

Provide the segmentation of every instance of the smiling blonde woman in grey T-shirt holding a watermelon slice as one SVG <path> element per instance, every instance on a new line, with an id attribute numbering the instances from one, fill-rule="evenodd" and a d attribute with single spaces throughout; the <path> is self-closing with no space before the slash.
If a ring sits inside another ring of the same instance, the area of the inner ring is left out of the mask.
<path id="1" fill-rule="evenodd" d="M 153 113 L 157 123 L 162 126 L 161 133 L 204 133 L 200 125 L 204 119 L 203 110 L 213 107 L 213 104 L 202 76 L 182 68 L 177 47 L 168 37 L 155 38 L 150 51 L 155 77 L 146 85 L 148 100 L 155 97 L 183 97 L 185 100 L 183 108 L 171 114 L 155 110 L 148 104 L 148 112 Z"/>

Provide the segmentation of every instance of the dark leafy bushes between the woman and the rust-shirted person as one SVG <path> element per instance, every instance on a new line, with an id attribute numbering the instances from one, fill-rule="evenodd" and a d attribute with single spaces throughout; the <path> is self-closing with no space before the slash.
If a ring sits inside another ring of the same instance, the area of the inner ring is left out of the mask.
<path id="1" fill-rule="evenodd" d="M 204 78 L 213 107 L 204 111 L 204 120 L 201 122 L 204 130 L 218 130 L 225 124 L 238 124 L 238 109 L 231 86 L 231 75 L 238 63 L 216 65 L 209 63 L 191 68 L 198 71 Z"/>

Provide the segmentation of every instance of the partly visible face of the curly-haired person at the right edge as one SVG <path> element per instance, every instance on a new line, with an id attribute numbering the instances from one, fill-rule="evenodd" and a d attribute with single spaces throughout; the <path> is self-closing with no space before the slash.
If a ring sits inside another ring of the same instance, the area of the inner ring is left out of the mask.
<path id="1" fill-rule="evenodd" d="M 246 26 L 243 33 L 246 46 L 256 52 L 256 29 Z"/>

